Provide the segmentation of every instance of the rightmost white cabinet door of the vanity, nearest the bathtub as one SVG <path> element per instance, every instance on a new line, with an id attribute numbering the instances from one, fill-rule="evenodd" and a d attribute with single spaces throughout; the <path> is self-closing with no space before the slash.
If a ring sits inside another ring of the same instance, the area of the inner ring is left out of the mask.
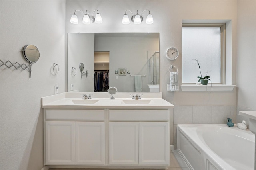
<path id="1" fill-rule="evenodd" d="M 168 165 L 170 137 L 168 122 L 140 122 L 140 165 Z"/>

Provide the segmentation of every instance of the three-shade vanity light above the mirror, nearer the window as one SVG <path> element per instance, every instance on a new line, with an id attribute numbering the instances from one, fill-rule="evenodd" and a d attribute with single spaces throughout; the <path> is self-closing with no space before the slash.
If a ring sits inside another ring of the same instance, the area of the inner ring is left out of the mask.
<path id="1" fill-rule="evenodd" d="M 131 10 L 126 10 L 126 11 L 130 11 L 132 13 Z M 130 23 L 130 20 L 129 20 L 128 15 L 126 14 L 126 11 L 125 11 L 125 14 L 124 14 L 124 17 L 123 17 L 123 20 L 122 20 L 123 24 L 129 24 Z M 150 11 L 149 10 L 144 10 L 144 11 L 148 11 L 148 16 L 146 18 L 146 24 L 154 23 L 154 20 L 153 20 L 152 15 L 150 14 Z M 144 11 L 142 11 L 142 13 Z M 141 24 L 141 22 L 143 21 L 142 13 L 139 15 L 138 14 L 138 10 L 137 10 L 137 14 L 136 15 L 133 15 L 133 13 L 132 13 L 131 21 L 134 22 L 134 24 Z"/>

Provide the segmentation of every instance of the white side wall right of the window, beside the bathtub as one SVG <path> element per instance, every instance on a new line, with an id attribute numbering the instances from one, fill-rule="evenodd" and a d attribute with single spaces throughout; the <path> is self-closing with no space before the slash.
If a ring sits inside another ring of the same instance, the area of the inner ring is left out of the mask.
<path id="1" fill-rule="evenodd" d="M 238 1 L 237 113 L 256 110 L 256 1 Z M 237 115 L 238 122 L 248 118 Z"/>

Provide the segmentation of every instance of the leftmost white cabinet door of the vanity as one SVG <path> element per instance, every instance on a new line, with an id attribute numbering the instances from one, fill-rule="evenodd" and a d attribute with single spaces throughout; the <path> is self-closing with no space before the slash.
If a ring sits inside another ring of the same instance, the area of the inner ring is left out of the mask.
<path id="1" fill-rule="evenodd" d="M 75 163 L 75 122 L 45 122 L 45 163 Z"/>

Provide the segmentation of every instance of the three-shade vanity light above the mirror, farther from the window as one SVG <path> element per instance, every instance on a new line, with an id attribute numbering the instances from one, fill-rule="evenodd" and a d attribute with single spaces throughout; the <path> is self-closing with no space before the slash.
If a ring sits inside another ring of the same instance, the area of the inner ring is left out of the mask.
<path id="1" fill-rule="evenodd" d="M 75 10 L 74 14 L 73 14 L 73 15 L 71 16 L 71 18 L 70 18 L 70 22 L 73 23 L 73 24 L 78 24 L 78 18 L 77 18 L 77 16 L 76 16 L 76 11 L 82 12 L 81 10 Z M 93 13 L 94 13 L 95 11 L 97 11 L 97 14 L 96 14 L 96 16 L 95 16 L 95 18 L 94 18 Z M 82 12 L 82 13 L 84 14 L 84 12 Z M 87 14 L 87 13 L 88 13 L 88 14 Z M 88 10 L 86 10 L 86 12 L 85 12 L 85 14 L 84 14 L 84 17 L 83 17 L 83 24 L 88 25 L 88 24 L 90 24 L 90 23 L 94 23 L 94 21 L 95 21 L 95 23 L 102 23 L 102 18 L 101 18 L 101 16 L 100 16 L 98 10 L 94 10 L 94 11 L 92 12 L 92 15 L 91 15 L 91 16 L 89 16 L 89 12 L 88 12 Z"/>

